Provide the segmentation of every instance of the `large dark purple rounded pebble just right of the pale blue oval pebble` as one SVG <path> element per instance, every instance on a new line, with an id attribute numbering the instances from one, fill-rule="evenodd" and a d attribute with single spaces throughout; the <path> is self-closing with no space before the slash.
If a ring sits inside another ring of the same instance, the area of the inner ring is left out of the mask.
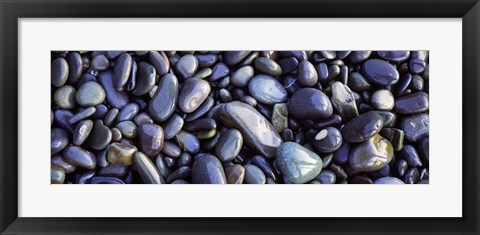
<path id="1" fill-rule="evenodd" d="M 333 113 L 332 103 L 320 90 L 302 88 L 288 102 L 288 111 L 297 119 L 324 119 Z"/>

